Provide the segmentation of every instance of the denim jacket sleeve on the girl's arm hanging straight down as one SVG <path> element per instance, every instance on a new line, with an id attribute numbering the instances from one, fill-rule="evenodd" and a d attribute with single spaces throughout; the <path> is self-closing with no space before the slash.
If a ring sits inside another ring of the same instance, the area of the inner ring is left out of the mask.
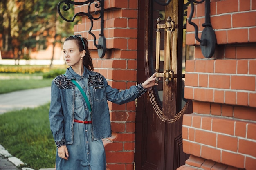
<path id="1" fill-rule="evenodd" d="M 65 145 L 63 120 L 64 116 L 61 107 L 60 91 L 57 85 L 52 82 L 49 121 L 50 129 L 57 147 Z"/>

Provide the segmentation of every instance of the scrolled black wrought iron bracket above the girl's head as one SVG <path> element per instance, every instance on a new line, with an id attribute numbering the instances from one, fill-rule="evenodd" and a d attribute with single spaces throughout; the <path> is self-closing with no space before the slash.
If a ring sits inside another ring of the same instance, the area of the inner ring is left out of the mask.
<path id="1" fill-rule="evenodd" d="M 99 9 L 98 11 L 95 11 L 94 14 L 98 17 L 97 18 L 94 18 L 94 16 L 92 16 L 91 12 L 90 12 L 90 7 L 92 5 L 92 3 L 95 3 L 95 8 L 96 9 Z M 63 4 L 63 11 L 67 11 L 70 9 L 70 4 L 73 4 L 73 5 L 84 5 L 84 4 L 88 4 L 88 9 L 87 9 L 87 12 L 78 12 L 76 13 L 72 20 L 69 20 L 67 18 L 65 18 L 62 13 L 61 13 L 61 4 Z M 95 47 L 98 49 L 98 55 L 100 58 L 103 58 L 105 56 L 105 53 L 106 53 L 106 38 L 104 37 L 104 33 L 103 33 L 103 29 L 104 29 L 104 0 L 87 0 L 85 2 L 74 2 L 72 0 L 62 0 L 61 2 L 58 3 L 58 14 L 61 16 L 61 18 L 67 22 L 74 22 L 76 16 L 87 16 L 90 21 L 91 21 L 91 27 L 89 29 L 89 34 L 91 34 L 94 38 L 94 45 Z M 99 40 L 98 40 L 98 44 L 96 44 L 96 36 L 95 34 L 93 34 L 91 31 L 92 31 L 92 27 L 93 27 L 93 20 L 99 20 L 101 19 L 101 32 L 99 34 Z"/>

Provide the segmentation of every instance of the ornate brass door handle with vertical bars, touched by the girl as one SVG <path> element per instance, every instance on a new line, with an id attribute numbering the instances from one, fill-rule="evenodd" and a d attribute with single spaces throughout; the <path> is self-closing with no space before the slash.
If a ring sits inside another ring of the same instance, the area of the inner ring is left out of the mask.
<path id="1" fill-rule="evenodd" d="M 157 32 L 156 32 L 156 60 L 155 60 L 155 70 L 156 70 L 156 83 L 159 83 L 159 77 L 164 77 L 165 83 L 168 84 L 174 78 L 174 72 L 171 70 L 171 31 L 174 31 L 177 26 L 175 22 L 171 20 L 171 17 L 167 18 L 165 24 L 160 24 L 161 19 L 157 19 Z M 165 29 L 166 31 L 166 51 L 164 55 L 164 73 L 159 73 L 160 70 L 160 29 Z"/>

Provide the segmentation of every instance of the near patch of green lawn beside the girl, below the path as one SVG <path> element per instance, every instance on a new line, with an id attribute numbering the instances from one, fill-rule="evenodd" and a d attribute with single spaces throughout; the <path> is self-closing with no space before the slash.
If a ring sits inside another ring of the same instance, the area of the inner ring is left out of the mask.
<path id="1" fill-rule="evenodd" d="M 56 146 L 49 128 L 49 103 L 0 115 L 0 143 L 8 152 L 38 170 L 54 168 Z"/>

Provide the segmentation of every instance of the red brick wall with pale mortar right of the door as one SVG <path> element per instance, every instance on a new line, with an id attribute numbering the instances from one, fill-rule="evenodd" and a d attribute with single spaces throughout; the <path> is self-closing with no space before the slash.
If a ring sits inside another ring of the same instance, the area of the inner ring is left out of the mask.
<path id="1" fill-rule="evenodd" d="M 193 22 L 204 23 L 204 3 Z M 188 169 L 256 167 L 256 1 L 211 0 L 217 46 L 213 58 L 202 55 L 194 28 L 187 25 L 195 60 L 186 62 L 185 98 L 193 114 L 183 118 L 183 150 Z"/>

